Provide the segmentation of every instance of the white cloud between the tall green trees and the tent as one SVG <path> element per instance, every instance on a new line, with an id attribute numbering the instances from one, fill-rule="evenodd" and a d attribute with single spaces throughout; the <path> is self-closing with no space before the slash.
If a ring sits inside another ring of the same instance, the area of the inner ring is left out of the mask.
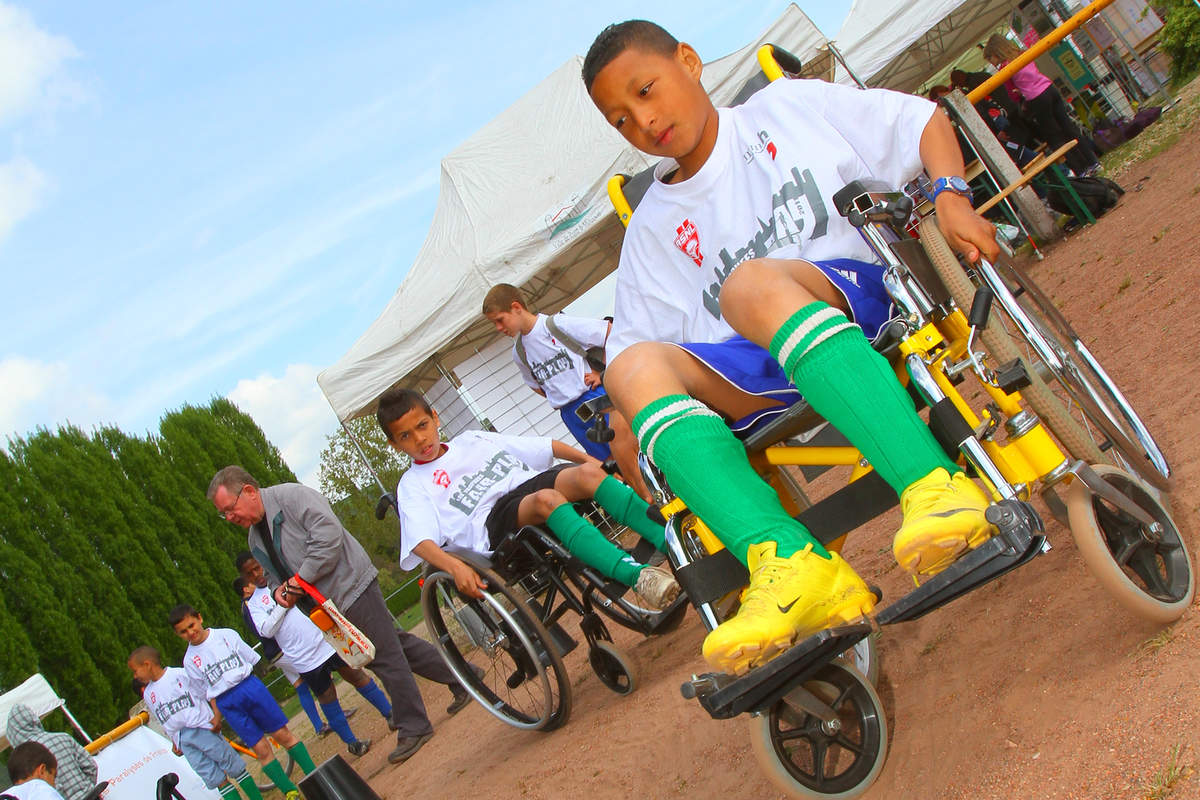
<path id="1" fill-rule="evenodd" d="M 262 374 L 244 378 L 229 399 L 250 414 L 301 483 L 319 489 L 318 467 L 325 437 L 337 428 L 337 417 L 317 387 L 317 367 L 293 363 L 282 378 Z"/>

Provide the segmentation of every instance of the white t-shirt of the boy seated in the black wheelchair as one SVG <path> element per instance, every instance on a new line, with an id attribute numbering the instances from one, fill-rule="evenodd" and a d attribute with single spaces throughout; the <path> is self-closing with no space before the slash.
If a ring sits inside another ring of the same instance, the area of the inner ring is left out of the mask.
<path id="1" fill-rule="evenodd" d="M 440 458 L 414 462 L 396 487 L 400 567 L 421 563 L 413 548 L 424 541 L 490 555 L 487 515 L 502 495 L 554 464 L 551 447 L 547 438 L 467 431 L 446 443 Z"/>

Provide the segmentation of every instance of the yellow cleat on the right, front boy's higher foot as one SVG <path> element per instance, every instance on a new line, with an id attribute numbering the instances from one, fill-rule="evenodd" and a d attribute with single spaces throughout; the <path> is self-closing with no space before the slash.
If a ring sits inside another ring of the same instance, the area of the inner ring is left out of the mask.
<path id="1" fill-rule="evenodd" d="M 983 516 L 988 505 L 966 475 L 950 477 L 938 467 L 900 494 L 904 523 L 892 546 L 896 561 L 918 578 L 937 575 L 996 533 Z"/>

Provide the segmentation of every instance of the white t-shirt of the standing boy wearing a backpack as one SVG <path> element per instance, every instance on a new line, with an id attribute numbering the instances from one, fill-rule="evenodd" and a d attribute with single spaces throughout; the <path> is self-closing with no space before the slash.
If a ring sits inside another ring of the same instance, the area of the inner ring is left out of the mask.
<path id="1" fill-rule="evenodd" d="M 604 347 L 608 336 L 608 320 L 588 319 L 586 317 L 568 317 L 556 314 L 554 324 L 559 330 L 586 348 Z M 592 372 L 582 356 L 551 335 L 546 327 L 546 314 L 538 314 L 533 329 L 521 337 L 526 348 L 527 368 L 517 357 L 516 343 L 512 344 L 512 360 L 517 363 L 521 378 L 530 389 L 540 389 L 546 393 L 546 401 L 554 408 L 563 408 L 588 390 L 583 375 Z"/>

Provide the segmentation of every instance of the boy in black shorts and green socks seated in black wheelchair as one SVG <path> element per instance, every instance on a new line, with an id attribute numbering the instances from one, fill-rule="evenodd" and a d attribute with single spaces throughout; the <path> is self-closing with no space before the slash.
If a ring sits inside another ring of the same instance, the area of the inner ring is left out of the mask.
<path id="1" fill-rule="evenodd" d="M 444 443 L 437 411 L 410 389 L 384 392 L 376 416 L 388 443 L 413 459 L 396 487 L 402 569 L 424 560 L 450 573 L 464 595 L 479 597 L 484 579 L 443 547 L 490 555 L 505 534 L 545 524 L 581 561 L 655 607 L 670 606 L 679 594 L 670 572 L 638 564 L 575 511 L 572 503 L 594 499 L 620 524 L 664 545 L 646 501 L 595 458 L 553 439 L 486 431 Z M 557 458 L 575 465 L 556 467 Z"/>

